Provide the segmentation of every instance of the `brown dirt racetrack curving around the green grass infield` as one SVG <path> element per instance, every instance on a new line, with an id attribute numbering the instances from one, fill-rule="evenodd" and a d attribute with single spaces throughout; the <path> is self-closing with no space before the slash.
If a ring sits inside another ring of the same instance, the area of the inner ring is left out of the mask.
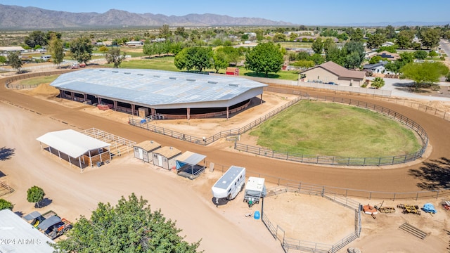
<path id="1" fill-rule="evenodd" d="M 423 162 L 412 164 L 400 168 L 375 168 L 375 169 L 356 169 L 342 167 L 313 166 L 309 164 L 298 164 L 294 162 L 285 162 L 282 160 L 272 160 L 265 157 L 255 157 L 243 153 L 234 153 L 221 149 L 221 145 L 212 144 L 207 147 L 200 145 L 191 145 L 184 141 L 178 141 L 168 136 L 153 134 L 150 131 L 129 126 L 120 122 L 115 122 L 103 117 L 96 117 L 72 108 L 65 108 L 50 103 L 46 100 L 34 98 L 5 88 L 6 78 L 0 79 L 0 102 L 8 101 L 23 108 L 30 108 L 39 112 L 40 117 L 51 117 L 68 122 L 81 129 L 95 127 L 108 131 L 117 136 L 131 139 L 136 142 L 144 140 L 154 140 L 162 145 L 169 145 L 178 148 L 181 151 L 190 150 L 196 153 L 207 155 L 207 160 L 215 164 L 226 166 L 238 165 L 248 168 L 249 171 L 257 171 L 261 174 L 290 179 L 296 182 L 312 183 L 319 186 L 334 186 L 339 188 L 352 188 L 358 190 L 371 190 L 383 192 L 414 192 L 423 190 L 418 187 L 418 183 L 430 183 L 431 179 L 439 177 L 439 171 L 442 167 L 448 167 L 448 164 L 436 162 L 442 157 L 449 157 L 450 152 L 450 122 L 440 119 L 425 112 L 420 112 L 402 105 L 394 105 L 385 101 L 364 98 L 361 96 L 347 96 L 333 94 L 332 96 L 345 96 L 355 100 L 363 100 L 368 103 L 374 103 L 395 110 L 426 129 L 430 138 L 430 147 L 432 151 L 425 162 L 431 162 L 435 166 L 424 166 Z M 330 93 L 320 93 L 308 91 L 311 96 L 330 96 Z M 7 119 L 2 119 L 7 120 Z M 60 124 L 56 122 L 56 124 Z M 62 125 L 62 127 L 67 127 Z M 30 126 L 32 127 L 32 126 Z M 6 133 L 4 133 L 6 134 Z M 31 143 L 31 145 L 39 145 Z M 222 145 L 223 146 L 223 145 Z M 423 176 L 416 177 L 411 175 L 411 170 L 423 171 Z M 441 187 L 446 186 L 446 182 L 440 182 Z"/>

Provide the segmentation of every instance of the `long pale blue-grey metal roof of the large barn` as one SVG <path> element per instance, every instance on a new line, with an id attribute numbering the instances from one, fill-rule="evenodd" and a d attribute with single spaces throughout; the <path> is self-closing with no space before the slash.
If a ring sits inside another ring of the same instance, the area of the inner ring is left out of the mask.
<path id="1" fill-rule="evenodd" d="M 211 106 L 198 103 L 221 101 L 217 107 L 231 106 L 262 94 L 267 85 L 238 77 L 187 72 L 86 69 L 61 74 L 51 86 L 151 108 L 174 104 L 178 108 L 205 108 Z"/>

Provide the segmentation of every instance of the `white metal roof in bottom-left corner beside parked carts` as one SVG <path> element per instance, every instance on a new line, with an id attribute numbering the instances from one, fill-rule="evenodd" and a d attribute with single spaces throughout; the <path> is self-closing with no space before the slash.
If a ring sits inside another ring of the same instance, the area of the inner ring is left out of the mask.
<path id="1" fill-rule="evenodd" d="M 10 209 L 0 211 L 0 228 L 0 238 L 3 240 L 3 243 L 0 243 L 0 252 L 51 253 L 55 250 L 46 243 L 54 243 L 53 240 Z"/>

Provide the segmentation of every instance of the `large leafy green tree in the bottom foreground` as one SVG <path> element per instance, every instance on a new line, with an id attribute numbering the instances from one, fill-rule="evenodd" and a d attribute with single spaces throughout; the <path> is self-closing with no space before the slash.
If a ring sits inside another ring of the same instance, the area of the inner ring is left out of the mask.
<path id="1" fill-rule="evenodd" d="M 98 203 L 87 219 L 81 216 L 55 247 L 58 252 L 197 252 L 200 241 L 189 244 L 179 235 L 176 222 L 161 210 L 153 211 L 147 200 L 132 193 L 115 207 Z"/>

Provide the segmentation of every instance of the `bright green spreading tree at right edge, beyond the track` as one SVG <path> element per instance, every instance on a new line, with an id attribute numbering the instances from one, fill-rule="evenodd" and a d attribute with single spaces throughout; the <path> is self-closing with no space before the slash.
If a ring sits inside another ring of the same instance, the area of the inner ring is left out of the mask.
<path id="1" fill-rule="evenodd" d="M 442 63 L 408 63 L 400 71 L 404 77 L 415 82 L 416 89 L 420 89 L 423 84 L 438 82 L 439 77 L 449 72 L 449 68 Z"/>

